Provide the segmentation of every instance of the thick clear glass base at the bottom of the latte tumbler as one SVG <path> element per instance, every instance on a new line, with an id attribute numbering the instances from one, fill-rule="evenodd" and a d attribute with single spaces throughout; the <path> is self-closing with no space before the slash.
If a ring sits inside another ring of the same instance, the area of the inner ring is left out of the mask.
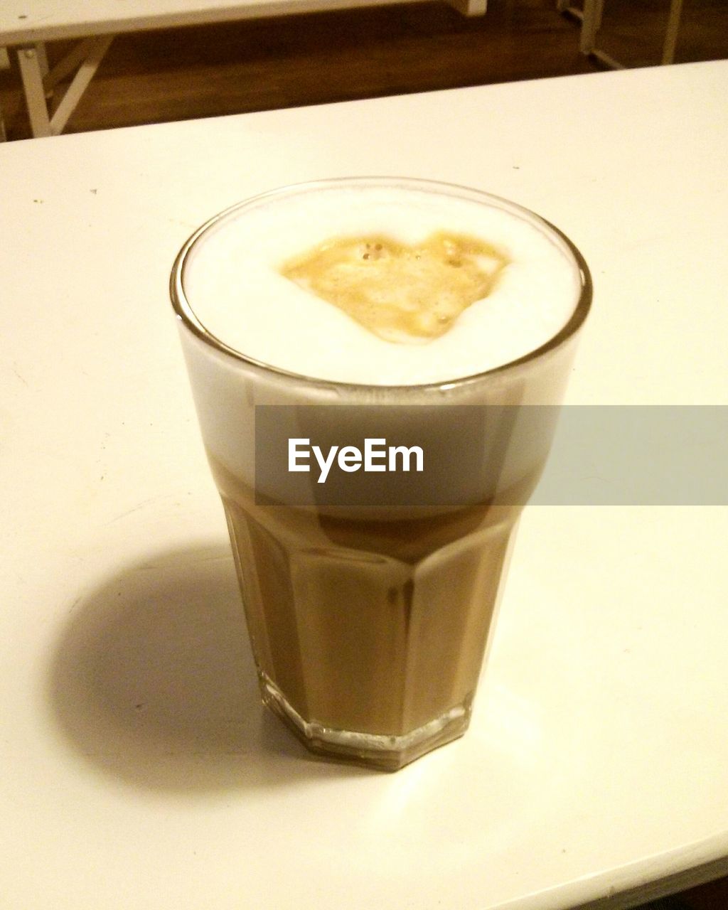
<path id="1" fill-rule="evenodd" d="M 337 730 L 304 720 L 266 673 L 259 672 L 258 676 L 263 703 L 278 714 L 310 752 L 337 761 L 363 764 L 379 771 L 398 771 L 420 755 L 458 739 L 470 723 L 469 699 L 467 703 L 456 705 L 440 717 L 400 736 Z"/>

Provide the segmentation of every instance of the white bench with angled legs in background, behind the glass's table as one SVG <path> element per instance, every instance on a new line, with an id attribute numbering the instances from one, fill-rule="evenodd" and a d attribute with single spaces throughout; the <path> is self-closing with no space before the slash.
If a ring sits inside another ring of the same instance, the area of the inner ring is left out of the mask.
<path id="1" fill-rule="evenodd" d="M 56 136 L 63 132 L 117 34 L 407 2 L 410 0 L 4 0 L 0 5 L 0 50 L 10 47 L 17 53 L 33 136 Z M 447 2 L 463 15 L 485 13 L 486 0 Z M 49 70 L 45 43 L 62 38 L 82 40 Z M 55 87 L 71 74 L 63 95 L 54 100 Z"/>

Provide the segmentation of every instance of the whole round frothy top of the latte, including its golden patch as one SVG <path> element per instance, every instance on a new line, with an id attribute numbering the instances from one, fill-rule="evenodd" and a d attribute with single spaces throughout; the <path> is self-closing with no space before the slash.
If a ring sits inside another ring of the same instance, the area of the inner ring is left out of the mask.
<path id="1" fill-rule="evenodd" d="M 581 292 L 568 249 L 525 210 L 389 179 L 234 207 L 195 241 L 184 285 L 228 348 L 366 386 L 450 382 L 520 359 L 560 331 Z"/>

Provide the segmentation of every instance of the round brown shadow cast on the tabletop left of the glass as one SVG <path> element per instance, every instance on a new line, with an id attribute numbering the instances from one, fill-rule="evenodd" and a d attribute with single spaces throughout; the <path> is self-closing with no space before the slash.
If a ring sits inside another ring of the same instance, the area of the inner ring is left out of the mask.
<path id="1" fill-rule="evenodd" d="M 317 759 L 260 703 L 227 547 L 162 551 L 82 598 L 47 679 L 66 739 L 136 787 L 288 785 L 366 769 Z"/>

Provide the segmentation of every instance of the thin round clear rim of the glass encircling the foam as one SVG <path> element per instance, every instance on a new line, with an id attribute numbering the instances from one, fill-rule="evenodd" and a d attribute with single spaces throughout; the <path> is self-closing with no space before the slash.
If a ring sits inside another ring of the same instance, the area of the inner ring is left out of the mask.
<path id="1" fill-rule="evenodd" d="M 216 335 L 210 332 L 203 323 L 198 319 L 195 310 L 192 308 L 187 295 L 185 293 L 185 271 L 187 268 L 187 263 L 190 254 L 197 245 L 197 242 L 203 238 L 208 231 L 212 228 L 217 227 L 217 225 L 223 221 L 225 218 L 231 216 L 233 213 L 238 212 L 242 208 L 248 206 L 258 205 L 266 199 L 291 195 L 293 193 L 305 193 L 310 192 L 311 190 L 324 188 L 324 187 L 337 187 L 344 185 L 369 185 L 369 186 L 390 186 L 393 184 L 404 185 L 406 187 L 421 189 L 430 189 L 430 190 L 440 190 L 444 195 L 457 195 L 460 198 L 469 197 L 470 199 L 487 200 L 490 205 L 495 204 L 498 207 L 505 208 L 510 210 L 516 215 L 525 217 L 531 222 L 536 223 L 537 226 L 540 226 L 545 233 L 551 234 L 554 238 L 561 241 L 561 244 L 566 251 L 573 258 L 574 266 L 576 272 L 580 278 L 581 291 L 579 293 L 579 298 L 577 299 L 576 305 L 571 312 L 570 318 L 564 323 L 564 325 L 556 332 L 555 335 L 552 335 L 550 339 L 545 341 L 538 348 L 528 351 L 528 353 L 521 355 L 521 357 L 508 360 L 506 363 L 502 363 L 497 367 L 491 367 L 490 369 L 480 370 L 477 373 L 469 373 L 467 376 L 455 377 L 452 379 L 440 379 L 434 382 L 420 382 L 420 383 L 406 383 L 399 385 L 385 385 L 380 383 L 366 383 L 366 382 L 349 382 L 339 379 L 322 379 L 321 377 L 308 376 L 306 373 L 297 373 L 293 370 L 284 369 L 282 367 L 276 367 L 272 364 L 266 363 L 263 360 L 258 360 L 254 357 L 250 357 L 248 354 L 242 353 L 238 349 L 231 348 L 223 340 L 218 339 Z M 453 193 L 453 191 L 456 191 Z M 491 377 L 498 377 L 499 375 L 506 374 L 512 370 L 518 369 L 519 367 L 530 363 L 531 360 L 540 359 L 545 354 L 548 354 L 552 350 L 560 348 L 562 344 L 571 339 L 576 332 L 581 329 L 581 325 L 586 319 L 590 309 L 591 309 L 591 299 L 592 299 L 592 284 L 591 284 L 591 273 L 589 267 L 586 264 L 586 260 L 581 255 L 579 248 L 571 241 L 559 227 L 551 224 L 550 221 L 547 221 L 545 218 L 538 215 L 536 212 L 531 211 L 530 208 L 521 206 L 517 202 L 512 202 L 511 199 L 505 197 L 496 196 L 492 193 L 488 193 L 485 190 L 476 189 L 474 187 L 465 187 L 461 184 L 456 183 L 447 183 L 441 180 L 430 180 L 420 177 L 329 177 L 321 180 L 307 180 L 300 183 L 288 184 L 283 187 L 276 187 L 274 189 L 266 190 L 262 193 L 257 193 L 255 196 L 247 197 L 245 199 L 236 202 L 232 206 L 229 206 L 223 209 L 220 212 L 217 212 L 216 215 L 208 218 L 200 227 L 197 227 L 197 230 L 190 235 L 189 238 L 185 241 L 182 248 L 177 253 L 177 258 L 175 258 L 174 265 L 172 267 L 172 273 L 169 280 L 169 295 L 172 301 L 172 307 L 174 308 L 177 319 L 189 330 L 197 339 L 203 341 L 207 344 L 208 347 L 216 350 L 218 353 L 225 355 L 228 358 L 231 358 L 239 363 L 245 364 L 247 367 L 251 367 L 255 370 L 264 372 L 267 375 L 274 375 L 282 381 L 295 381 L 297 383 L 305 382 L 307 385 L 314 385 L 323 389 L 349 389 L 352 393 L 361 391 L 363 389 L 376 389 L 378 392 L 393 391 L 397 390 L 402 393 L 406 389 L 424 391 L 427 389 L 440 390 L 440 389 L 456 389 L 462 386 L 470 385 L 476 382 L 480 382 L 483 379 L 489 379 Z"/>

